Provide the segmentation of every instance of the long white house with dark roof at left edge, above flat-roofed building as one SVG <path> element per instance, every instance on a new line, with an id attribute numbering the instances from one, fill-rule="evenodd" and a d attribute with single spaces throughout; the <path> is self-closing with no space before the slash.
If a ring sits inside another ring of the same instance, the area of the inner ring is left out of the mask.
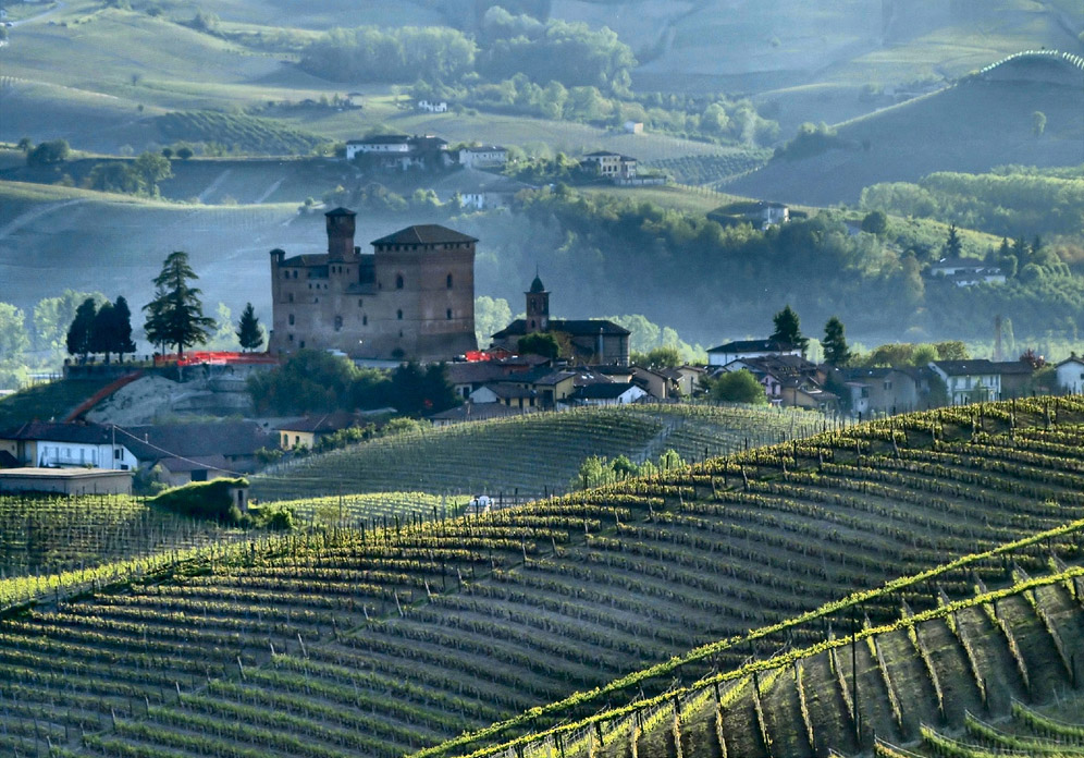
<path id="1" fill-rule="evenodd" d="M 99 424 L 29 421 L 0 432 L 0 450 L 24 466 L 135 470 L 141 449 L 123 429 Z"/>

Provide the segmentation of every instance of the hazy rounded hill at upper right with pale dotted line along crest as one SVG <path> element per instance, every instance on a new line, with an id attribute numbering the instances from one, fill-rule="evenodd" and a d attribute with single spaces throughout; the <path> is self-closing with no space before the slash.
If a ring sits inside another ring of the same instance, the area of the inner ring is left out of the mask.
<path id="1" fill-rule="evenodd" d="M 858 201 L 878 182 L 914 182 L 935 171 L 995 166 L 1076 166 L 1084 161 L 1084 71 L 1049 56 L 1012 59 L 935 94 L 837 127 L 838 147 L 776 158 L 727 184 L 726 192 L 826 206 Z M 1033 114 L 1046 131 L 1033 133 Z"/>

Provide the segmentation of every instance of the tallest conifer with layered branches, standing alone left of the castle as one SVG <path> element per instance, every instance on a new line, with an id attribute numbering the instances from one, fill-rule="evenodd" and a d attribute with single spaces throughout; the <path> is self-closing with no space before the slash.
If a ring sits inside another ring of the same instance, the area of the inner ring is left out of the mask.
<path id="1" fill-rule="evenodd" d="M 184 349 L 207 341 L 214 319 L 204 316 L 200 291 L 189 280 L 199 279 L 188 264 L 188 254 L 171 253 L 155 278 L 156 295 L 143 309 L 147 311 L 144 330 L 155 344 L 173 345 L 183 356 Z"/>

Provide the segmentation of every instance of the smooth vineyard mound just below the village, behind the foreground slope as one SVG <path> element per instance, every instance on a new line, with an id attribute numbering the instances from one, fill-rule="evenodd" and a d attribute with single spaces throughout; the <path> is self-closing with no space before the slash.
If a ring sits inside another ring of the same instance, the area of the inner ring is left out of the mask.
<path id="1" fill-rule="evenodd" d="M 362 442 L 252 478 L 263 500 L 419 490 L 541 497 L 563 492 L 589 455 L 702 460 L 822 428 L 820 414 L 644 405 L 530 414 Z"/>

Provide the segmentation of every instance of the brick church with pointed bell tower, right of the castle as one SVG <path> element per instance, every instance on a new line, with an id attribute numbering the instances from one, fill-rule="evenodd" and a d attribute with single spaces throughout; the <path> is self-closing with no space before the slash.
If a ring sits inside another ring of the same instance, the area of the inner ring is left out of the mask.
<path id="1" fill-rule="evenodd" d="M 629 363 L 629 337 L 632 332 L 606 319 L 568 320 L 550 318 L 550 293 L 535 276 L 527 296 L 527 317 L 519 318 L 493 334 L 493 346 L 516 352 L 519 340 L 528 334 L 553 334 L 566 342 L 579 363 Z"/>

